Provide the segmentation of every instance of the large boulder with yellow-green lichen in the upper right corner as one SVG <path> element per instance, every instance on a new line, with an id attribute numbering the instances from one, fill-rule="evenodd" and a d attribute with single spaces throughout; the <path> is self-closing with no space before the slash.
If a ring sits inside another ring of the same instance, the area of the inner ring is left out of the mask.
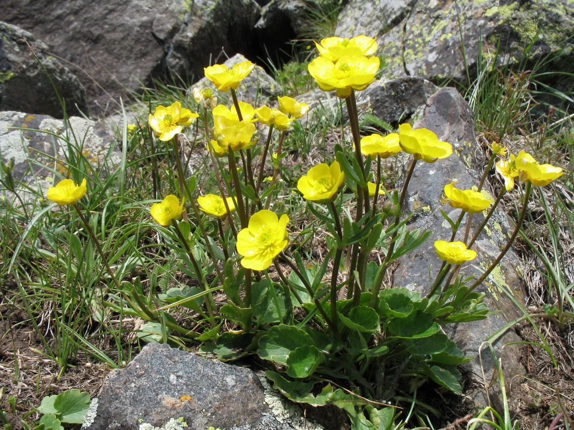
<path id="1" fill-rule="evenodd" d="M 336 35 L 359 34 L 378 37 L 391 76 L 464 81 L 465 60 L 472 76 L 480 46 L 490 59 L 498 42 L 499 62 L 520 61 L 533 44 L 534 61 L 560 54 L 554 64 L 574 71 L 574 8 L 569 0 L 351 0 L 339 15 Z"/>

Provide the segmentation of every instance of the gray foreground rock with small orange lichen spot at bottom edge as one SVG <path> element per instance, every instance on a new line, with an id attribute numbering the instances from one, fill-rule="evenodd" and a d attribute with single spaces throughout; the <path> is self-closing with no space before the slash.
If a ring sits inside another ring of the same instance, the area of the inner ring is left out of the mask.
<path id="1" fill-rule="evenodd" d="M 249 369 L 150 343 L 125 369 L 110 373 L 82 429 L 179 429 L 181 421 L 189 430 L 302 428 L 304 418 L 268 394 Z"/>

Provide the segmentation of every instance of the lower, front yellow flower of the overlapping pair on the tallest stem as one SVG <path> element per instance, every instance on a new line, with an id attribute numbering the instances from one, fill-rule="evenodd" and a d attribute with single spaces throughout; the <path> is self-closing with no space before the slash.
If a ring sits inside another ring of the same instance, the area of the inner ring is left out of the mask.
<path id="1" fill-rule="evenodd" d="M 375 80 L 379 69 L 378 57 L 346 56 L 333 63 L 325 57 L 311 61 L 307 69 L 323 91 L 337 90 L 337 96 L 346 99 L 351 91 L 362 91 Z"/>

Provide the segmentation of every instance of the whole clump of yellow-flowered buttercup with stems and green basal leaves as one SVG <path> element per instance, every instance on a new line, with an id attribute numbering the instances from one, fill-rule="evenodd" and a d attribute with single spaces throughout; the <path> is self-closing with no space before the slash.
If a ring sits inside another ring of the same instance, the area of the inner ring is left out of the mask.
<path id="1" fill-rule="evenodd" d="M 435 250 L 430 248 L 437 263 L 429 270 L 432 279 L 417 279 L 428 283 L 428 293 L 393 288 L 386 281 L 393 264 L 421 252 L 432 235 L 407 223 L 405 200 L 415 167 L 421 160 L 441 163 L 456 155 L 432 130 L 406 123 L 387 135 L 364 135 L 355 92 L 367 88 L 378 71 L 374 39 L 326 38 L 317 49 L 309 73 L 319 88 L 341 97 L 350 132 L 342 133 L 348 141 L 320 153 L 323 159 L 296 178 L 281 168 L 283 143 L 297 138 L 298 118 L 314 112 L 290 97 L 279 97 L 278 110 L 238 100 L 235 89 L 253 69 L 250 62 L 205 69 L 220 91 L 230 91 L 232 104 L 213 108 L 216 95 L 195 92 L 203 115 L 188 136 L 199 136 L 198 147 L 209 149 L 213 176 L 207 181 L 189 177 L 180 157 L 183 139 L 174 139 L 197 114 L 176 102 L 150 115 L 156 131 L 150 144 L 159 139 L 172 145 L 154 154 L 163 157 L 154 161 L 165 167 L 159 169 L 165 177 L 154 182 L 157 195 L 169 195 L 146 206 L 142 219 L 151 213 L 163 226 L 149 234 L 154 252 L 165 245 L 174 256 L 173 267 L 162 268 L 164 279 L 169 271 L 184 273 L 188 284 L 165 290 L 165 284 L 154 284 L 158 276 L 153 272 L 146 287 L 138 281 L 120 285 L 104 263 L 117 284 L 107 305 L 144 319 L 148 331 L 161 329 L 164 339 L 199 344 L 205 354 L 226 360 L 257 355 L 258 365 L 263 363 L 267 378 L 282 393 L 315 406 L 342 406 L 353 430 L 393 428 L 402 409 L 387 407 L 386 401 L 401 406 L 402 398 L 412 396 L 408 388 L 433 381 L 441 390 L 461 393 L 457 366 L 469 358 L 441 327 L 487 318 L 484 294 L 476 287 L 518 234 L 532 186 L 548 185 L 562 170 L 522 151 L 506 158 L 493 146 L 476 191 L 444 184 L 450 204 L 463 210 L 456 220 L 443 214 L 452 239 L 437 240 Z M 257 120 L 265 127 L 256 127 Z M 274 133 L 276 128 L 280 132 Z M 257 130 L 263 129 L 265 143 L 259 144 Z M 391 161 L 401 150 L 410 154 L 401 155 L 409 163 L 404 182 L 387 190 L 381 159 Z M 497 171 L 507 183 L 523 187 L 523 207 L 509 243 L 494 261 L 484 261 L 473 249 L 475 241 L 503 194 L 515 192 L 503 187 L 494 203 L 480 192 L 497 157 Z M 72 204 L 82 216 L 77 201 L 86 192 L 85 181 L 64 185 L 51 189 L 49 198 Z M 459 232 L 460 225 L 479 228 Z M 469 265 L 483 265 L 484 273 L 478 279 L 465 275 Z M 170 310 L 181 314 L 173 318 Z"/>

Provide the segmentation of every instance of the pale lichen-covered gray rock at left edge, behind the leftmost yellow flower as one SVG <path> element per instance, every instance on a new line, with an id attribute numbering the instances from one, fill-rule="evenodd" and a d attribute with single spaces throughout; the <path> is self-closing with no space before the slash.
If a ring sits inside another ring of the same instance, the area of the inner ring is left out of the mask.
<path id="1" fill-rule="evenodd" d="M 98 173 L 107 163 L 114 169 L 121 161 L 119 153 L 112 151 L 114 136 L 100 122 L 72 116 L 68 124 L 48 115 L 32 115 L 22 112 L 0 112 L 0 158 L 13 163 L 13 175 L 17 181 L 45 194 L 48 187 L 68 171 L 69 148 L 83 154 Z M 57 176 L 57 175 L 59 176 Z M 22 189 L 26 201 L 34 194 Z"/>

